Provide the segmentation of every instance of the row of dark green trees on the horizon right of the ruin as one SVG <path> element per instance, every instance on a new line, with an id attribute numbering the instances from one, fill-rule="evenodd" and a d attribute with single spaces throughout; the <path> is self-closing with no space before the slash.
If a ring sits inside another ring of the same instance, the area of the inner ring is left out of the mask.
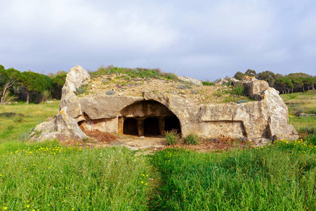
<path id="1" fill-rule="evenodd" d="M 265 80 L 270 87 L 277 89 L 282 94 L 301 92 L 305 90 L 315 90 L 316 77 L 303 72 L 290 73 L 289 75 L 275 74 L 271 71 L 256 73 L 255 70 L 246 70 L 242 73 L 236 72 L 235 79 L 243 79 L 244 76 L 253 76 L 257 79 Z"/>

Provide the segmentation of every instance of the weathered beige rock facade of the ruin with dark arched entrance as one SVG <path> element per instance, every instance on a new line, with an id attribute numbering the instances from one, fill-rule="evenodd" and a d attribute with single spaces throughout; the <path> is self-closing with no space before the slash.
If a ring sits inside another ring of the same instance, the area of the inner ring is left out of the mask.
<path id="1" fill-rule="evenodd" d="M 182 79 L 202 85 L 197 79 Z M 155 91 L 143 91 L 143 96 L 109 96 L 105 91 L 78 96 L 77 90 L 90 80 L 88 72 L 79 65 L 70 70 L 62 87 L 58 114 L 37 125 L 32 139 L 88 138 L 81 128 L 135 136 L 159 136 L 177 129 L 181 136 L 190 133 L 207 138 L 228 136 L 261 144 L 298 139 L 278 91 L 254 77 L 245 77 L 243 81 L 231 79 L 234 84 L 243 84 L 255 100 L 239 104 L 197 104 L 174 93 Z"/>

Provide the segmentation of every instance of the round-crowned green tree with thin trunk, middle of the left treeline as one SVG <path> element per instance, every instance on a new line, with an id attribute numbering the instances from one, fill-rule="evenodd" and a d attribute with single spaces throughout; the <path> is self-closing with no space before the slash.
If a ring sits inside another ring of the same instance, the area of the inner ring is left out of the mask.
<path id="1" fill-rule="evenodd" d="M 27 104 L 29 103 L 29 94 L 31 91 L 43 93 L 45 90 L 49 90 L 52 87 L 50 77 L 41 75 L 37 72 L 32 72 L 31 70 L 21 72 L 19 81 L 21 86 L 25 88 L 25 92 L 27 94 Z"/>

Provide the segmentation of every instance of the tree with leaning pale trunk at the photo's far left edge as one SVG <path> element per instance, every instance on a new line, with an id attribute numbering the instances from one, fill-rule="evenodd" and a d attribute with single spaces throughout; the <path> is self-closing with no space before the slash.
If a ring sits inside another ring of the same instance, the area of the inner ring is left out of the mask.
<path id="1" fill-rule="evenodd" d="M 0 65 L 0 86 L 1 86 L 1 105 L 4 105 L 4 96 L 9 88 L 11 88 L 18 79 L 20 72 L 13 68 L 5 70 L 3 65 Z"/>

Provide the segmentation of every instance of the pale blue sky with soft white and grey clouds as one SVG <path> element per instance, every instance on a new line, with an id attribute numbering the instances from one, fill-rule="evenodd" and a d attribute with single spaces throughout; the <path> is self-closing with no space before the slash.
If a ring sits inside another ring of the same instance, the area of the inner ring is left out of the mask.
<path id="1" fill-rule="evenodd" d="M 0 29 L 0 64 L 20 71 L 316 75 L 314 0 L 0 0 Z"/>

